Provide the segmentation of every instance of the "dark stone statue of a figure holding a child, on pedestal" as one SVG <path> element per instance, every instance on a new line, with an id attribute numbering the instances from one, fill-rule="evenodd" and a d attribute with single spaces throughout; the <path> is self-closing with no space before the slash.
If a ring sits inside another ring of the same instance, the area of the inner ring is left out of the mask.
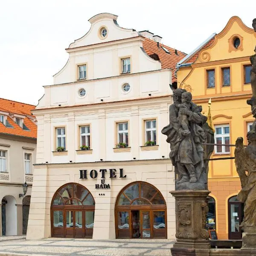
<path id="1" fill-rule="evenodd" d="M 170 123 L 163 128 L 162 133 L 167 135 L 166 141 L 170 143 L 169 156 L 177 176 L 176 190 L 207 189 L 207 167 L 204 160 L 206 154 L 202 143 L 208 140 L 209 127 L 205 125 L 206 119 L 201 114 L 202 107 L 191 101 L 191 93 L 180 88 L 172 89 L 174 103 L 169 107 Z M 207 152 L 207 157 L 210 157 L 212 151 L 210 154 Z"/>

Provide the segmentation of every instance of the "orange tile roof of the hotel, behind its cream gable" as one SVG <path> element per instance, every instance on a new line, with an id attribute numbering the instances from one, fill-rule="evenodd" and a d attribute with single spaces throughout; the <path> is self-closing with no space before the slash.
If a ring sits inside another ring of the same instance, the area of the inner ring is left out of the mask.
<path id="1" fill-rule="evenodd" d="M 170 53 L 167 53 L 163 48 L 168 49 Z M 172 81 L 177 81 L 177 77 L 175 76 L 176 64 L 181 61 L 184 57 L 186 57 L 186 53 L 180 52 L 177 50 L 177 54 L 175 54 L 175 49 L 166 46 L 164 44 L 159 43 L 159 47 L 157 46 L 157 42 L 148 38 L 145 38 L 143 41 L 143 49 L 148 55 L 156 53 L 161 62 L 162 69 L 171 68 L 172 69 Z"/>

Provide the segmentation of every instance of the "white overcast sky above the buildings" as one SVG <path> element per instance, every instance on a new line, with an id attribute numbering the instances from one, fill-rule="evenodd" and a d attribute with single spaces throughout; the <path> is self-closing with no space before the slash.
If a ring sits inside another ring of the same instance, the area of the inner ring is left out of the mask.
<path id="1" fill-rule="evenodd" d="M 230 17 L 249 27 L 256 17 L 253 0 L 0 0 L 0 98 L 37 105 L 43 86 L 67 62 L 65 48 L 102 12 L 186 53 L 221 32 Z"/>

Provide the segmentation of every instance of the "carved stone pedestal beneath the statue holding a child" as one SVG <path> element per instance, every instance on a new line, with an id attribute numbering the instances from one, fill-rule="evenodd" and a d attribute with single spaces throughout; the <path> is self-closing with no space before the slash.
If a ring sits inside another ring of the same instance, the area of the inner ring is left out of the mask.
<path id="1" fill-rule="evenodd" d="M 209 256 L 209 233 L 205 230 L 208 190 L 175 190 L 176 238 L 172 256 Z"/>

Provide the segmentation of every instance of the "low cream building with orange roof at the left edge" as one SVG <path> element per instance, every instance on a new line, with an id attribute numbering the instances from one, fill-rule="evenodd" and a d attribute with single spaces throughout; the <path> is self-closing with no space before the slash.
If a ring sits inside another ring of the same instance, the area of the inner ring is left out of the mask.
<path id="1" fill-rule="evenodd" d="M 0 99 L 0 236 L 26 234 L 36 160 L 34 108 Z"/>

